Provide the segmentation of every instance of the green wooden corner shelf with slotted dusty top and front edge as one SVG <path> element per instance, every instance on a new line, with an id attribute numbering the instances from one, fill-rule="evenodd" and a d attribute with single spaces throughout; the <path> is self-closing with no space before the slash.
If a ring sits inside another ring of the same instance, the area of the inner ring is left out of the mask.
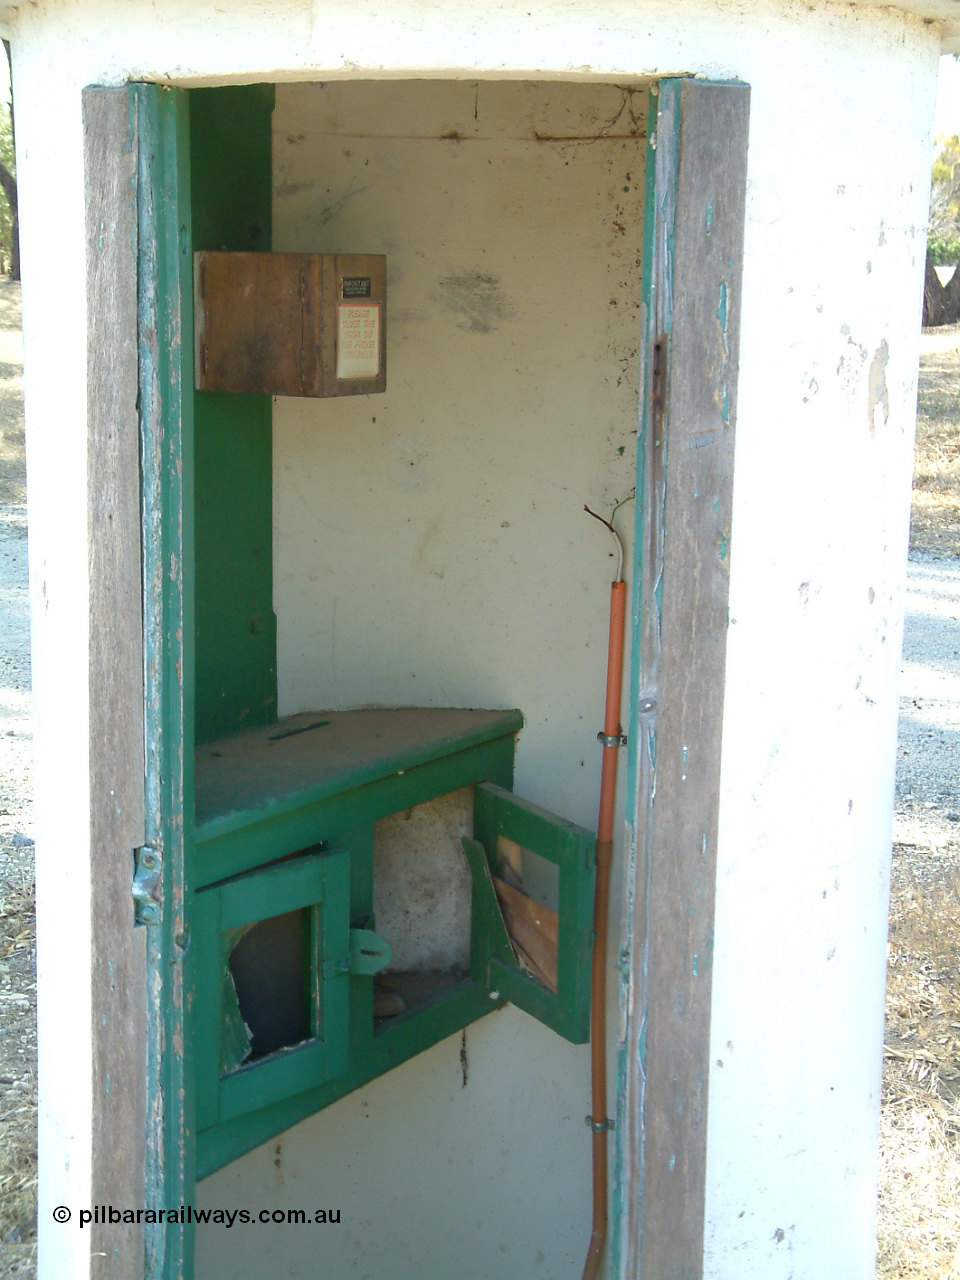
<path id="1" fill-rule="evenodd" d="M 305 712 L 196 749 L 197 887 L 512 773 L 517 710 Z"/>

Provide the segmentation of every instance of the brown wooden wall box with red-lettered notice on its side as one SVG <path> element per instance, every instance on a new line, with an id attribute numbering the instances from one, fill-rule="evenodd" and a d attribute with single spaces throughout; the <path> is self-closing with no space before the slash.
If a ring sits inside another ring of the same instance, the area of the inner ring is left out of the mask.
<path id="1" fill-rule="evenodd" d="M 197 252 L 193 283 L 198 392 L 387 390 L 385 257 Z"/>

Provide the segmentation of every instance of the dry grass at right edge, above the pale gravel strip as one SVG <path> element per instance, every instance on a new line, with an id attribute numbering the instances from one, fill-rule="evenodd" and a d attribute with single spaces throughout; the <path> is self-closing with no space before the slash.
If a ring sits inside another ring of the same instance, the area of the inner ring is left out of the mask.
<path id="1" fill-rule="evenodd" d="M 920 361 L 910 549 L 960 556 L 960 347 Z"/>

